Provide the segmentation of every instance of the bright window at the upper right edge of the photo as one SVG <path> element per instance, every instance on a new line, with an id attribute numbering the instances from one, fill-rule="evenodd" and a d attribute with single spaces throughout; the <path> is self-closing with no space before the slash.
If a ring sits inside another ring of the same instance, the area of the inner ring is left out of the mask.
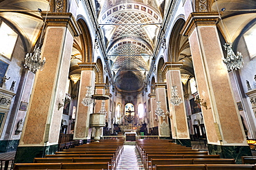
<path id="1" fill-rule="evenodd" d="M 250 28 L 250 30 L 248 30 L 244 34 L 244 40 L 246 41 L 246 46 L 250 54 L 250 58 L 253 58 L 254 56 L 256 56 L 255 39 L 256 39 L 256 24 L 253 26 L 253 28 Z"/>

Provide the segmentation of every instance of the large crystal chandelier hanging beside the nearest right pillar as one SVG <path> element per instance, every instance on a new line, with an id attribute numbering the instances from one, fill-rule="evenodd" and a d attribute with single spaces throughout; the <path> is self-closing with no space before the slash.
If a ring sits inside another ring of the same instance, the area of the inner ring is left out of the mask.
<path id="1" fill-rule="evenodd" d="M 237 56 L 232 50 L 232 43 L 225 43 L 223 45 L 225 47 L 225 50 L 227 51 L 227 57 L 223 58 L 223 63 L 228 68 L 228 71 L 232 70 L 239 70 L 241 67 L 243 67 L 243 56 L 241 55 L 241 52 L 237 52 Z"/>

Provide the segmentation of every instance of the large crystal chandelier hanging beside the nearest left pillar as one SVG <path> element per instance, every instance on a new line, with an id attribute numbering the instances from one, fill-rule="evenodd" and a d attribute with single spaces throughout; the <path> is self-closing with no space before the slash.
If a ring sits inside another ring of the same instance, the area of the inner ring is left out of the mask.
<path id="1" fill-rule="evenodd" d="M 27 53 L 25 56 L 24 67 L 28 68 L 28 70 L 33 73 L 37 72 L 37 70 L 42 70 L 44 63 L 46 63 L 46 59 L 44 58 L 42 60 L 40 54 L 41 49 L 39 47 L 35 49 L 34 54 L 31 52 Z"/>

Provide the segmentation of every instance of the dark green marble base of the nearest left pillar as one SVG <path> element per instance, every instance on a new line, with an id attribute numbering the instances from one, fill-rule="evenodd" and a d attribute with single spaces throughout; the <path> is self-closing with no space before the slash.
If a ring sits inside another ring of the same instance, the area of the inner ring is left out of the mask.
<path id="1" fill-rule="evenodd" d="M 42 147 L 18 147 L 15 156 L 15 163 L 32 163 L 34 158 L 44 158 L 45 155 L 53 155 L 58 145 Z"/>

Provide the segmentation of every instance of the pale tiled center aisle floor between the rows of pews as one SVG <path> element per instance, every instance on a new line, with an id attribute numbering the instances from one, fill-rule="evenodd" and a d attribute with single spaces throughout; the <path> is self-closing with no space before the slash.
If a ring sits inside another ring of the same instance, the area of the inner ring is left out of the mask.
<path id="1" fill-rule="evenodd" d="M 116 170 L 144 170 L 140 156 L 136 151 L 135 145 L 124 145 L 124 151 L 118 161 Z"/>

